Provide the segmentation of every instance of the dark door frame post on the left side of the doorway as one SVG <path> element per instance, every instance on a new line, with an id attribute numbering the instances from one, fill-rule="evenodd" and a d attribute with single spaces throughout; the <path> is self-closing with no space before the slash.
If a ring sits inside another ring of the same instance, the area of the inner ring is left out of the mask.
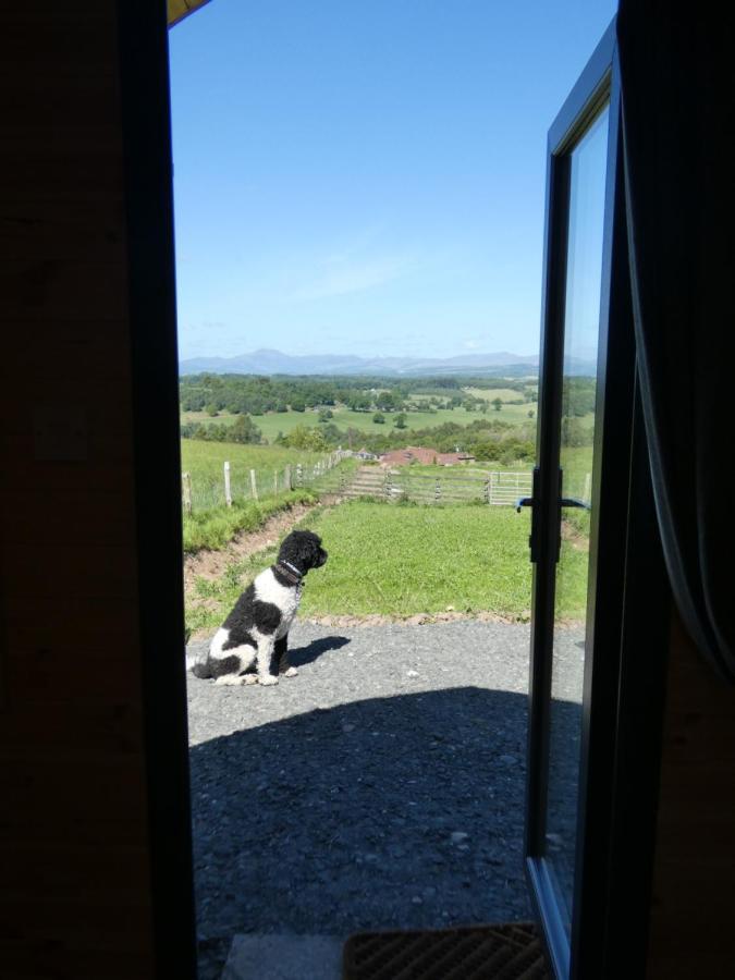
<path id="1" fill-rule="evenodd" d="M 167 5 L 117 8 L 154 964 L 195 980 Z"/>

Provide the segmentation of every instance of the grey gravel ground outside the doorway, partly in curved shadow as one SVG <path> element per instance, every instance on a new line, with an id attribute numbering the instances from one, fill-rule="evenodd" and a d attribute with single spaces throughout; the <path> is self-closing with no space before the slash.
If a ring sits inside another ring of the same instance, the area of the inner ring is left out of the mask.
<path id="1" fill-rule="evenodd" d="M 200 940 L 527 918 L 528 627 L 291 638 L 277 687 L 189 675 Z"/>

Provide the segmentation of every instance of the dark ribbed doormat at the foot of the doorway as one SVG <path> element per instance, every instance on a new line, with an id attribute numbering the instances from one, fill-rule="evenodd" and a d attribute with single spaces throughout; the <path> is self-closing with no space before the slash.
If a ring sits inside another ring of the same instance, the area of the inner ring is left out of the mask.
<path id="1" fill-rule="evenodd" d="M 342 964 L 343 980 L 552 980 L 532 922 L 360 932 Z"/>

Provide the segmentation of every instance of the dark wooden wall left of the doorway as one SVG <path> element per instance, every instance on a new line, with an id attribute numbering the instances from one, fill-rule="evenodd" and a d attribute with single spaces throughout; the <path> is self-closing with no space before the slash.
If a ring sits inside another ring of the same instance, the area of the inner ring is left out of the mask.
<path id="1" fill-rule="evenodd" d="M 0 975 L 152 977 L 112 0 L 4 4 Z"/>

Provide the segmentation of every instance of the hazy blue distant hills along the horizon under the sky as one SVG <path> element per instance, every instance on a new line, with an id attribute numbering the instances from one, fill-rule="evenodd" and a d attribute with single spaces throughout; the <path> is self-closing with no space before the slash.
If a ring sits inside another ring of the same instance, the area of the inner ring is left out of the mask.
<path id="1" fill-rule="evenodd" d="M 525 377 L 535 375 L 539 359 L 535 355 L 461 354 L 456 357 L 355 357 L 344 354 L 310 354 L 292 356 L 280 351 L 262 348 L 236 357 L 192 357 L 182 360 L 182 375 L 372 375 L 381 377 L 425 377 L 437 375 L 500 375 Z M 593 375 L 595 365 L 575 360 L 574 375 Z"/>

